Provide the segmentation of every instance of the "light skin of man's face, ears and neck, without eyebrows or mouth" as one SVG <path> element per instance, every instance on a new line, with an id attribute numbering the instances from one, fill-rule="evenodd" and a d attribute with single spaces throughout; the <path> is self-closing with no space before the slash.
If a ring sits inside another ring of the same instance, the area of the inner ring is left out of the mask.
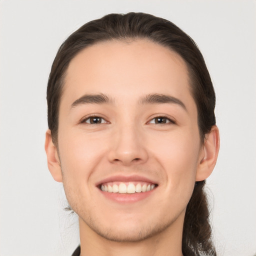
<path id="1" fill-rule="evenodd" d="M 110 102 L 74 103 L 99 93 Z M 155 93 L 184 106 L 141 103 Z M 101 120 L 91 124 L 90 116 Z M 182 255 L 186 205 L 194 182 L 211 173 L 218 147 L 216 126 L 200 141 L 186 64 L 175 52 L 146 40 L 83 49 L 67 69 L 58 149 L 50 130 L 45 140 L 49 170 L 79 217 L 81 255 Z M 146 198 L 117 202 L 96 186 L 113 175 L 140 175 L 157 186 Z"/>

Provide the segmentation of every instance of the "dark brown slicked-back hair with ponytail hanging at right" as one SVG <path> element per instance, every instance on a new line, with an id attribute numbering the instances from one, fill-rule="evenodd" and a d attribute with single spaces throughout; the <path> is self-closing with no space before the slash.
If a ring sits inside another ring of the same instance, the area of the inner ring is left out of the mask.
<path id="1" fill-rule="evenodd" d="M 215 93 L 202 54 L 195 42 L 172 22 L 146 13 L 108 14 L 73 32 L 59 47 L 47 86 L 48 126 L 57 145 L 58 112 L 65 73 L 70 60 L 88 45 L 109 40 L 147 39 L 178 53 L 186 62 L 191 93 L 197 107 L 201 142 L 215 124 Z M 195 182 L 188 202 L 182 237 L 182 252 L 216 255 L 211 242 L 205 181 Z"/>

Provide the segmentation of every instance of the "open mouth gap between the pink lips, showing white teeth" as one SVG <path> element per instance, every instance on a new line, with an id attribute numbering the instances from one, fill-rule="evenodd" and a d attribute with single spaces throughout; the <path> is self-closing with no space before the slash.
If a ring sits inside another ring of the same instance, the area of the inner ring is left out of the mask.
<path id="1" fill-rule="evenodd" d="M 157 187 L 156 183 L 146 181 L 110 181 L 98 185 L 98 188 L 103 192 L 117 193 L 117 194 L 134 194 L 145 193 Z"/>

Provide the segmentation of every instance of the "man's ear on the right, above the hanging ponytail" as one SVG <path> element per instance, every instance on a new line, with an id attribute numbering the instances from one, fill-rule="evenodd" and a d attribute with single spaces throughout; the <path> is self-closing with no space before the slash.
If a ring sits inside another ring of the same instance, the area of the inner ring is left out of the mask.
<path id="1" fill-rule="evenodd" d="M 204 139 L 197 165 L 195 181 L 204 180 L 210 175 L 217 161 L 218 150 L 219 132 L 218 127 L 213 125 Z"/>

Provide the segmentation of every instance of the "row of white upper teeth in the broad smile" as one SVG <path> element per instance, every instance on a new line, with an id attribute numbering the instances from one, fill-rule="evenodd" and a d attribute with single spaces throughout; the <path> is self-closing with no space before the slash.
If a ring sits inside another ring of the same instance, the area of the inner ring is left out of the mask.
<path id="1" fill-rule="evenodd" d="M 134 183 L 128 182 L 128 184 L 125 183 L 107 183 L 101 185 L 101 190 L 106 192 L 113 192 L 113 193 L 139 193 L 139 192 L 146 192 L 149 190 L 152 190 L 155 187 L 155 184 L 150 183 L 137 183 L 136 185 Z"/>

